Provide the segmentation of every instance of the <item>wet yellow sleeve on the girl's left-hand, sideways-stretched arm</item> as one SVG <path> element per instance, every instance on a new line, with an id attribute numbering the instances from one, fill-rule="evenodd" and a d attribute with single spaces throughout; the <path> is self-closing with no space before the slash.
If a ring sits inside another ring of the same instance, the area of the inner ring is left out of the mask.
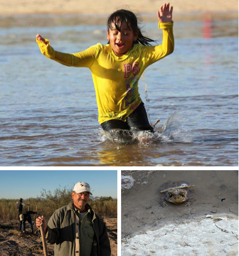
<path id="1" fill-rule="evenodd" d="M 55 51 L 50 45 L 49 40 L 45 39 L 45 41 L 48 43 L 48 46 L 36 39 L 41 53 L 47 58 L 55 60 L 63 65 L 70 67 L 91 67 L 96 58 L 97 45 L 91 46 L 79 53 L 62 53 Z"/>

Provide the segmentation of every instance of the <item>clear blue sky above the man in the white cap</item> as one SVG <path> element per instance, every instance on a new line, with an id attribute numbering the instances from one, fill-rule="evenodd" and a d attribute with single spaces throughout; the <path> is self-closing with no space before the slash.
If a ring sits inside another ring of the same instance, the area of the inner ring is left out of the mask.
<path id="1" fill-rule="evenodd" d="M 89 183 L 93 196 L 117 198 L 117 170 L 0 170 L 0 178 L 0 198 L 35 198 L 59 185 L 73 190 L 79 181 Z"/>

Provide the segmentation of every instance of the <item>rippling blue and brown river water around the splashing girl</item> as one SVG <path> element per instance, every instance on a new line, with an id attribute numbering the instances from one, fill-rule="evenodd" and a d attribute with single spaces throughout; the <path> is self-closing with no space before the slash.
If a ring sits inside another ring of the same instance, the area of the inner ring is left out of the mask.
<path id="1" fill-rule="evenodd" d="M 157 133 L 134 144 L 102 135 L 90 71 L 45 58 L 35 43 L 37 33 L 63 52 L 106 43 L 105 17 L 89 20 L 0 18 L 1 166 L 238 166 L 237 18 L 174 22 L 174 53 L 139 83 Z M 143 30 L 162 40 L 157 22 Z"/>

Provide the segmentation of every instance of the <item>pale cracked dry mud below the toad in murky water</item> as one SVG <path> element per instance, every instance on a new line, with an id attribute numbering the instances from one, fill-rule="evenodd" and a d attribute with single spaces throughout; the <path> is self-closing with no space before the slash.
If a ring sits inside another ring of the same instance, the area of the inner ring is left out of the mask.
<path id="1" fill-rule="evenodd" d="M 123 238 L 121 254 L 238 255 L 238 217 L 207 215 Z"/>

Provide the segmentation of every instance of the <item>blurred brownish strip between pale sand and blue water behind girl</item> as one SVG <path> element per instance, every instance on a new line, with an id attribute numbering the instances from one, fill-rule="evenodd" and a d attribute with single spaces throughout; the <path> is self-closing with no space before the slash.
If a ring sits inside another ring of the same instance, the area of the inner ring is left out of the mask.
<path id="1" fill-rule="evenodd" d="M 1 0 L 0 0 L 1 1 Z M 138 13 L 139 25 L 147 22 L 157 22 L 157 16 L 155 13 Z M 12 15 L 0 15 L 0 27 L 28 27 L 28 26 L 61 26 L 61 25 L 103 25 L 106 23 L 108 15 L 106 14 L 79 14 L 79 13 L 45 13 L 45 14 L 12 14 Z M 184 15 L 180 13 L 174 14 L 174 22 L 185 21 L 190 22 L 192 20 L 237 20 L 238 12 L 186 12 Z"/>

